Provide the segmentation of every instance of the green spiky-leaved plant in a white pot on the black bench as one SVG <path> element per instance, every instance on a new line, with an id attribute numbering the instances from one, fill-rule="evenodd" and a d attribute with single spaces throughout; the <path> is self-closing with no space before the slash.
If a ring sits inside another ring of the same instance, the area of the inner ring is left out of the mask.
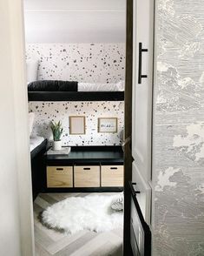
<path id="1" fill-rule="evenodd" d="M 63 133 L 63 127 L 62 123 L 59 121 L 58 123 L 56 122 L 51 122 L 51 130 L 53 133 L 53 145 L 52 149 L 54 151 L 60 151 L 62 149 L 62 141 L 61 141 L 61 135 Z"/>

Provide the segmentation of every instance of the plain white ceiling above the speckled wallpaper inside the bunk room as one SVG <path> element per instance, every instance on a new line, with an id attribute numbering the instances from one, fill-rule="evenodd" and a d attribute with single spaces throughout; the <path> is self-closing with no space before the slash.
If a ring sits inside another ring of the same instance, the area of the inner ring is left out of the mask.
<path id="1" fill-rule="evenodd" d="M 124 43 L 126 0 L 24 0 L 26 43 Z"/>

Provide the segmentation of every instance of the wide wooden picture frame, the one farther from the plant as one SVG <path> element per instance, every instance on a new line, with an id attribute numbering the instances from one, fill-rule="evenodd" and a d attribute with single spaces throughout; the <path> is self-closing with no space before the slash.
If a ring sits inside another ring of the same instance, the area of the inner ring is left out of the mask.
<path id="1" fill-rule="evenodd" d="M 98 132 L 116 133 L 117 124 L 117 118 L 98 118 Z"/>

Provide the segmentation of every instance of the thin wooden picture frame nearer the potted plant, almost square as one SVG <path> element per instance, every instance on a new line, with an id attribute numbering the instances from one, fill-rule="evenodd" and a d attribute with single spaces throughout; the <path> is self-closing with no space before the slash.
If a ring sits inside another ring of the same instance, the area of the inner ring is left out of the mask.
<path id="1" fill-rule="evenodd" d="M 86 118 L 84 116 L 69 117 L 69 134 L 70 135 L 86 134 Z"/>

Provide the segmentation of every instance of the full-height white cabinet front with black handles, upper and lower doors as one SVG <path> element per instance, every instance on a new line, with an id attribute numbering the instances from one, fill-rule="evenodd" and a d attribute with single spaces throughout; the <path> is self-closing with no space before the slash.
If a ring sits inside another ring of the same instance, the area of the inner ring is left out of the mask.
<path id="1" fill-rule="evenodd" d="M 134 0 L 130 241 L 135 256 L 151 255 L 153 35 L 154 1 Z"/>

